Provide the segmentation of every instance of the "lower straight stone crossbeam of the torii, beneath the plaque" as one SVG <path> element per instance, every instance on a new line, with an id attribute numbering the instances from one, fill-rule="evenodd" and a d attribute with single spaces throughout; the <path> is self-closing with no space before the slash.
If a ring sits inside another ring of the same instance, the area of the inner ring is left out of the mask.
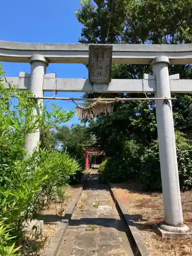
<path id="1" fill-rule="evenodd" d="M 46 74 L 44 77 L 43 91 L 52 92 L 133 92 L 133 93 L 155 93 L 156 80 L 155 76 L 146 76 L 145 79 L 112 79 L 109 85 L 106 84 L 91 84 L 89 79 L 68 79 L 68 78 L 54 78 L 54 74 Z M 175 76 L 175 75 L 174 75 Z M 170 76 L 170 91 L 173 93 L 192 93 L 192 80 L 191 79 L 178 79 L 177 77 Z M 30 77 L 6 77 L 8 82 L 18 84 L 21 90 L 29 89 Z M 4 81 L 4 87 L 9 88 L 8 84 Z"/>

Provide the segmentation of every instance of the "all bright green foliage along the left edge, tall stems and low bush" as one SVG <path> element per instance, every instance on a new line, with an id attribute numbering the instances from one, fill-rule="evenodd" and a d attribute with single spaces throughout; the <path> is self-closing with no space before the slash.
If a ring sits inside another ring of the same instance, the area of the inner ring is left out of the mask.
<path id="1" fill-rule="evenodd" d="M 11 85 L 4 89 L 2 74 L 0 67 L 0 255 L 11 256 L 16 251 L 14 242 L 19 244 L 23 239 L 23 222 L 39 214 L 80 167 L 68 154 L 53 150 L 53 146 L 37 148 L 24 160 L 28 134 L 38 127 L 48 131 L 68 121 L 73 112 L 66 113 L 53 105 L 52 113 L 40 107 L 40 114 L 34 116 L 37 103 L 32 94 Z"/>

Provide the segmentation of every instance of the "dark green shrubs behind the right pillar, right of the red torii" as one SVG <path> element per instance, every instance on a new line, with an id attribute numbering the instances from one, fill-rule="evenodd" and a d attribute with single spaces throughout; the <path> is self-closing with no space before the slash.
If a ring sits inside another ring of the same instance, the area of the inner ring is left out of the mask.
<path id="1" fill-rule="evenodd" d="M 192 145 L 182 134 L 176 133 L 177 160 L 181 190 L 192 188 Z M 162 190 L 158 141 L 148 147 L 125 142 L 119 157 L 108 158 L 100 165 L 100 182 L 120 183 L 136 180 L 146 191 Z"/>

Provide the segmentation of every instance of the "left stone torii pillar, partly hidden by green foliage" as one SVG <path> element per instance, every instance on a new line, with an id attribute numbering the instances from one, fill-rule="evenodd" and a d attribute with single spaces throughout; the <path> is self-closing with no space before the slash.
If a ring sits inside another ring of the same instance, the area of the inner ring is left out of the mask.
<path id="1" fill-rule="evenodd" d="M 30 58 L 31 73 L 29 82 L 29 91 L 33 93 L 36 97 L 42 97 L 44 76 L 46 73 L 46 68 L 48 66 L 48 61 L 43 55 L 35 54 Z M 33 110 L 33 116 L 40 113 L 41 101 L 38 101 L 38 106 Z M 26 156 L 33 153 L 33 150 L 37 147 L 40 140 L 40 127 L 35 133 L 29 134 L 25 142 Z"/>

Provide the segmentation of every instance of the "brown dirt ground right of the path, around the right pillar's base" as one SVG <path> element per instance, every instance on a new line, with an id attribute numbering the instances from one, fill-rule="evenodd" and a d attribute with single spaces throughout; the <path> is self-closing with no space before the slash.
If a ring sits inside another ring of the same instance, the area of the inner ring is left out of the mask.
<path id="1" fill-rule="evenodd" d="M 152 224 L 164 221 L 163 196 L 158 193 L 143 193 L 134 183 L 113 184 L 117 197 L 126 206 L 140 230 L 140 235 L 150 256 L 191 256 L 192 238 L 163 240 L 152 230 Z M 181 194 L 184 222 L 192 227 L 192 191 Z"/>

